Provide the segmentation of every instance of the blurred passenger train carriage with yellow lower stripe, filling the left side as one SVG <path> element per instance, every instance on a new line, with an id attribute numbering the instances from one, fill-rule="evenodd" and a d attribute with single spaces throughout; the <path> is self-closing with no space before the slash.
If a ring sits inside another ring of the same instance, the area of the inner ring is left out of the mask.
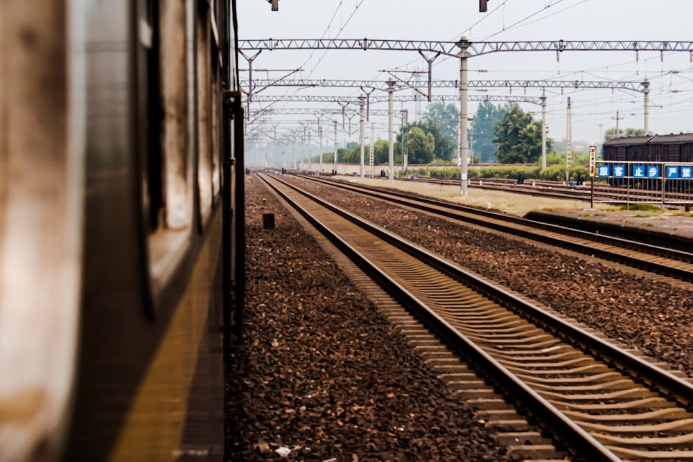
<path id="1" fill-rule="evenodd" d="M 0 461 L 222 460 L 234 24 L 228 1 L 0 2 Z"/>

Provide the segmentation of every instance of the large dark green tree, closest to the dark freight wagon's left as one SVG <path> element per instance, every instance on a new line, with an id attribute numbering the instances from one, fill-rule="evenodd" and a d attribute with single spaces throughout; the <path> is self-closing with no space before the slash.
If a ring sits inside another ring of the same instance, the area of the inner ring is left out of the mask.
<path id="1" fill-rule="evenodd" d="M 534 121 L 532 116 L 517 103 L 502 109 L 503 117 L 495 127 L 494 143 L 498 143 L 498 161 L 500 163 L 532 163 L 541 156 L 541 122 Z M 551 149 L 552 140 L 546 139 L 547 150 Z"/>

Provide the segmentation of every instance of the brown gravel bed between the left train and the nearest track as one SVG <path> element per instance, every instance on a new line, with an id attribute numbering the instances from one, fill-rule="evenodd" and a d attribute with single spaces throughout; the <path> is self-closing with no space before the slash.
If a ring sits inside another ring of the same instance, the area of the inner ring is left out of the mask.
<path id="1" fill-rule="evenodd" d="M 509 460 L 258 181 L 246 197 L 246 344 L 229 374 L 227 460 Z"/>

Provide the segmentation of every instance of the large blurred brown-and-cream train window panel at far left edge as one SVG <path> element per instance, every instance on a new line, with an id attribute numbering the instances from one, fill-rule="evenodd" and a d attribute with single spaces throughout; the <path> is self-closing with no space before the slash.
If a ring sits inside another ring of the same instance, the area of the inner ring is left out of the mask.
<path id="1" fill-rule="evenodd" d="M 0 2 L 2 461 L 53 459 L 69 423 L 84 120 L 70 11 L 64 1 Z"/>

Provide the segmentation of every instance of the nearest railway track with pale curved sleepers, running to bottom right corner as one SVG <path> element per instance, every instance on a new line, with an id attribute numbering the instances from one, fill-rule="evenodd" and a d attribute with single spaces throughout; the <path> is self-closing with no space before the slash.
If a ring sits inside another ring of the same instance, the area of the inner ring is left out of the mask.
<path id="1" fill-rule="evenodd" d="M 262 175 L 329 240 L 586 461 L 693 460 L 693 386 L 401 237 Z"/>

